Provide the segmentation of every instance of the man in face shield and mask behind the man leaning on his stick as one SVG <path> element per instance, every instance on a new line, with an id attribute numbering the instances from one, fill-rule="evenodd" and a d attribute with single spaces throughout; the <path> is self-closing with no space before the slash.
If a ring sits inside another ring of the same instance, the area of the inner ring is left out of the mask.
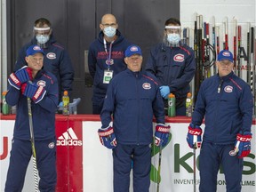
<path id="1" fill-rule="evenodd" d="M 45 18 L 40 18 L 35 21 L 34 37 L 25 44 L 19 52 L 18 60 L 16 61 L 14 71 L 27 65 L 26 50 L 33 44 L 39 45 L 44 50 L 44 70 L 52 72 L 57 77 L 59 84 L 59 101 L 64 91 L 68 94 L 72 92 L 72 83 L 74 80 L 74 69 L 69 58 L 68 52 L 62 45 L 58 44 L 52 35 L 51 22 Z"/>

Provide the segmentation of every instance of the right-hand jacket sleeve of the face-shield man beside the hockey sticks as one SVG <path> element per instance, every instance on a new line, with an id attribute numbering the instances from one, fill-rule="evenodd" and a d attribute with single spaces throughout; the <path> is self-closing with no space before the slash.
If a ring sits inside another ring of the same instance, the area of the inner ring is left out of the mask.
<path id="1" fill-rule="evenodd" d="M 186 66 L 184 68 L 182 76 L 172 80 L 172 83 L 169 84 L 170 90 L 176 91 L 187 86 L 195 76 L 195 72 L 196 72 L 195 53 L 191 51 L 190 54 L 188 54 L 188 58 L 186 59 Z"/>

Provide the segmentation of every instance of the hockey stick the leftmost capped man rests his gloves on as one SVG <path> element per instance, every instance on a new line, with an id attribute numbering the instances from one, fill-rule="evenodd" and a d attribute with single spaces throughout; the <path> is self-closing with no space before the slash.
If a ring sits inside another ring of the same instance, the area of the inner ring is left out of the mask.
<path id="1" fill-rule="evenodd" d="M 35 189 L 36 192 L 39 192 L 38 189 L 38 172 L 36 166 L 36 148 L 35 148 L 35 138 L 33 131 L 33 121 L 32 121 L 32 110 L 31 110 L 31 100 L 28 99 L 28 120 L 29 120 L 29 129 L 30 129 L 30 138 L 31 138 L 31 147 L 32 147 L 32 161 L 33 161 L 33 172 L 34 172 L 34 180 L 35 180 Z"/>

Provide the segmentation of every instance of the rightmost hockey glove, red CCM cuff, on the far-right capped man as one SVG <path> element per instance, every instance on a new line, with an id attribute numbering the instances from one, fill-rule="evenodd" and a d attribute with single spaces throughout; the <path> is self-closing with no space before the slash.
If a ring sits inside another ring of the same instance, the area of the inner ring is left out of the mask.
<path id="1" fill-rule="evenodd" d="M 248 156 L 251 152 L 252 132 L 238 133 L 236 135 L 236 143 L 234 151 L 238 152 L 238 158 Z"/>

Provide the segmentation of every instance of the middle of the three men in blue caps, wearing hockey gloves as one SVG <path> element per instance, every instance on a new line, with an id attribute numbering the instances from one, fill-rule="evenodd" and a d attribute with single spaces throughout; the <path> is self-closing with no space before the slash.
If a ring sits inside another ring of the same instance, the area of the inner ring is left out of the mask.
<path id="1" fill-rule="evenodd" d="M 113 148 L 114 192 L 129 191 L 132 162 L 133 191 L 148 192 L 153 116 L 157 123 L 156 146 L 167 144 L 170 126 L 164 125 L 164 103 L 156 77 L 140 71 L 140 47 L 129 46 L 124 61 L 127 69 L 116 75 L 108 86 L 100 114 L 99 136 L 102 145 Z"/>

